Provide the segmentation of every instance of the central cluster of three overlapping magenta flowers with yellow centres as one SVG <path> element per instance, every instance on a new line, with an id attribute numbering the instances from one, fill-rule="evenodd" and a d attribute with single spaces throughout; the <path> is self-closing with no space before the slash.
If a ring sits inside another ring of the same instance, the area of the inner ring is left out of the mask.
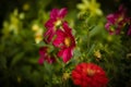
<path id="1" fill-rule="evenodd" d="M 45 24 L 47 30 L 44 34 L 44 41 L 47 46 L 39 49 L 39 64 L 43 64 L 45 60 L 53 63 L 56 61 L 55 53 L 57 53 L 58 58 L 62 58 L 64 63 L 72 58 L 75 40 L 72 35 L 72 28 L 63 20 L 67 13 L 66 8 L 60 10 L 52 9 L 50 12 L 50 18 Z M 58 49 L 57 52 L 51 50 L 49 45 L 53 47 L 53 50 Z"/>

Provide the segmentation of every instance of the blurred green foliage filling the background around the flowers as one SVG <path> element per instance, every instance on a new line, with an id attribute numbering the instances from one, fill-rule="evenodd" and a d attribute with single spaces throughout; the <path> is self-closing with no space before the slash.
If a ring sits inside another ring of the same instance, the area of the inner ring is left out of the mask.
<path id="1" fill-rule="evenodd" d="M 131 9 L 131 0 L 97 0 L 102 16 L 78 17 L 76 4 L 81 0 L 2 0 L 0 3 L 0 87 L 76 87 L 70 75 L 78 63 L 94 62 L 100 65 L 109 78 L 108 87 L 131 87 L 131 37 L 110 36 L 105 30 L 106 15 L 123 3 Z M 76 40 L 74 57 L 68 64 L 38 64 L 35 42 L 36 24 L 45 32 L 44 24 L 53 8 L 68 8 L 66 20 L 73 28 Z M 131 12 L 128 12 L 130 15 Z M 99 50 L 100 59 L 94 55 Z"/>

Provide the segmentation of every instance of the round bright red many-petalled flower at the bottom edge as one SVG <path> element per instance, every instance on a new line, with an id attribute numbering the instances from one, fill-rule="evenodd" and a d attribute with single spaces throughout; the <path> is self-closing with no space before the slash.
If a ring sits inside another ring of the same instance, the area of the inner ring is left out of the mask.
<path id="1" fill-rule="evenodd" d="M 81 87 L 106 87 L 108 78 L 105 71 L 94 63 L 81 63 L 72 71 L 74 85 Z"/>

